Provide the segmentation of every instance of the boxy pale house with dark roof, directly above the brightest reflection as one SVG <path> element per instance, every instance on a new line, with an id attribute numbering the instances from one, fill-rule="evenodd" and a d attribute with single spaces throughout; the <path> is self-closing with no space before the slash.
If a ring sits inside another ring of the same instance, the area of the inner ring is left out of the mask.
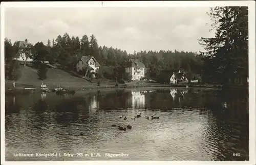
<path id="1" fill-rule="evenodd" d="M 132 76 L 133 81 L 141 80 L 145 76 L 145 65 L 137 59 L 130 59 L 125 71 Z"/>

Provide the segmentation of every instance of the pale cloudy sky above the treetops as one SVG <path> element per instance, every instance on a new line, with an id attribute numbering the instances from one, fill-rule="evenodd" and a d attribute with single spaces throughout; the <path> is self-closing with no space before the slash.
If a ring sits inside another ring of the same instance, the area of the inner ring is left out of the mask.
<path id="1" fill-rule="evenodd" d="M 208 7 L 7 8 L 5 37 L 47 43 L 58 35 L 96 36 L 99 46 L 134 51 L 203 51 L 200 37 L 213 37 Z M 207 25 L 208 23 L 208 25 Z"/>

